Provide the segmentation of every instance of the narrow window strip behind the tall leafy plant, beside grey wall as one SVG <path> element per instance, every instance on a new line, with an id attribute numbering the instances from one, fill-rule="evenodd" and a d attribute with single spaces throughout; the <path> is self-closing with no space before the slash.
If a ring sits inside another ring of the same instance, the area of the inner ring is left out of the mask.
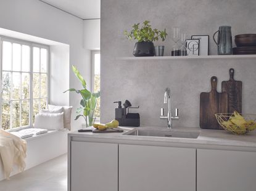
<path id="1" fill-rule="evenodd" d="M 101 53 L 99 51 L 92 51 L 92 90 L 99 92 L 101 90 Z M 95 117 L 101 117 L 101 97 L 97 99 L 97 106 L 95 109 Z"/>

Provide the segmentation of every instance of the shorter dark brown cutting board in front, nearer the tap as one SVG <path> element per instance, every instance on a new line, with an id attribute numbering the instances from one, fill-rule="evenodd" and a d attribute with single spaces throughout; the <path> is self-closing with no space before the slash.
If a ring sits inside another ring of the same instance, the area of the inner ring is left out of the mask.
<path id="1" fill-rule="evenodd" d="M 200 128 L 222 130 L 215 114 L 228 112 L 228 93 L 217 92 L 217 77 L 211 78 L 211 92 L 200 93 Z"/>

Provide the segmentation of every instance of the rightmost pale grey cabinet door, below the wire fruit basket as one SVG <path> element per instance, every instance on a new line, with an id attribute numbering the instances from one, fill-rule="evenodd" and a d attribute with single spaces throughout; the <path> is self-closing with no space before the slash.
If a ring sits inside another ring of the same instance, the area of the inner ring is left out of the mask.
<path id="1" fill-rule="evenodd" d="M 197 191 L 255 191 L 256 153 L 197 149 Z"/>

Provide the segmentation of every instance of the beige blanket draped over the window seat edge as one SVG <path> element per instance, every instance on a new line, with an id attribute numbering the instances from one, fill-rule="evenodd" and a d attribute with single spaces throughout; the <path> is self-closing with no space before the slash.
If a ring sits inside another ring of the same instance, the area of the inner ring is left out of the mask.
<path id="1" fill-rule="evenodd" d="M 26 152 L 27 142 L 25 140 L 0 130 L 0 158 L 6 179 L 9 179 L 14 165 L 17 165 L 20 171 L 25 169 Z"/>

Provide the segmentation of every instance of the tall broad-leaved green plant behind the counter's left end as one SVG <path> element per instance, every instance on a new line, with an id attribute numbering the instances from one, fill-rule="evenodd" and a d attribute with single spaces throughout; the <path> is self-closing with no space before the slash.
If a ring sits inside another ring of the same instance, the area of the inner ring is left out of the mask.
<path id="1" fill-rule="evenodd" d="M 80 80 L 83 89 L 76 90 L 75 88 L 70 88 L 69 90 L 66 90 L 65 92 L 75 92 L 79 93 L 81 95 L 81 101 L 80 101 L 80 107 L 76 109 L 76 114 L 78 114 L 75 118 L 77 120 L 80 117 L 83 117 L 86 122 L 86 127 L 90 127 L 94 123 L 94 111 L 97 104 L 97 98 L 100 96 L 100 92 L 97 93 L 91 93 L 86 88 L 86 82 L 83 76 L 81 76 L 80 72 L 74 65 L 72 65 L 72 70 L 75 74 L 75 76 Z M 64 93 L 65 93 L 64 92 Z"/>

